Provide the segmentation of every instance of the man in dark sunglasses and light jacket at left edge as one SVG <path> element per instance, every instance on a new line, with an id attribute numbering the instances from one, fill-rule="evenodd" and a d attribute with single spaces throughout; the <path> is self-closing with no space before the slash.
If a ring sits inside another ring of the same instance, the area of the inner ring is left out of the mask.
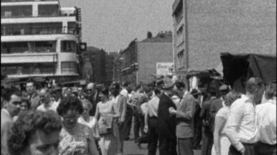
<path id="1" fill-rule="evenodd" d="M 8 133 L 12 125 L 12 118 L 20 110 L 21 94 L 17 89 L 3 90 L 3 109 L 1 109 L 1 154 L 8 155 Z"/>

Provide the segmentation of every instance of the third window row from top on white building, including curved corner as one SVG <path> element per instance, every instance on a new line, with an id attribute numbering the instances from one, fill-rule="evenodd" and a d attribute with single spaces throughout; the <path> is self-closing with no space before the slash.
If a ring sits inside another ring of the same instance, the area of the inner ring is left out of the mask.
<path id="1" fill-rule="evenodd" d="M 55 41 L 44 42 L 1 42 L 1 54 L 12 53 L 54 53 L 56 52 Z M 61 52 L 75 53 L 77 52 L 77 44 L 75 41 L 61 41 Z"/>

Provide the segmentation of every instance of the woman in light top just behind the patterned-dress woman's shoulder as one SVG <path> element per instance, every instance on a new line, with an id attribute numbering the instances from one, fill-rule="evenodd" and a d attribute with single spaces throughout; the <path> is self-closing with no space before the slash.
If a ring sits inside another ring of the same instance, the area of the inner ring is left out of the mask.
<path id="1" fill-rule="evenodd" d="M 98 145 L 98 141 L 100 140 L 98 122 L 96 117 L 89 116 L 89 111 L 93 108 L 92 104 L 91 102 L 89 102 L 89 100 L 86 100 L 86 99 L 81 101 L 82 101 L 82 107 L 84 108 L 84 112 L 82 113 L 82 116 L 78 118 L 78 122 L 80 122 L 83 125 L 89 126 L 89 128 L 93 132 L 93 136 L 96 141 L 96 147 L 98 149 L 98 152 L 101 155 L 101 150 Z"/>

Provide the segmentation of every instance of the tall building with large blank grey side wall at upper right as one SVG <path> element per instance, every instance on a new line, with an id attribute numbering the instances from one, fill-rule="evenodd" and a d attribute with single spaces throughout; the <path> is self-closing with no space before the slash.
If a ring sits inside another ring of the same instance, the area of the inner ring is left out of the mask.
<path id="1" fill-rule="evenodd" d="M 220 53 L 276 55 L 276 1 L 175 0 L 176 71 L 215 69 Z"/>

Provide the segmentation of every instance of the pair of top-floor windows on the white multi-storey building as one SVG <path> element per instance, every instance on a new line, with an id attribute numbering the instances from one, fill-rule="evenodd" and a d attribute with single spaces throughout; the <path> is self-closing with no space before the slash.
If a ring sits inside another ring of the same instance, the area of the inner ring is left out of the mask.
<path id="1" fill-rule="evenodd" d="M 60 15 L 57 4 L 38 5 L 38 16 L 56 17 Z M 32 17 L 33 6 L 1 6 L 1 17 Z"/>

